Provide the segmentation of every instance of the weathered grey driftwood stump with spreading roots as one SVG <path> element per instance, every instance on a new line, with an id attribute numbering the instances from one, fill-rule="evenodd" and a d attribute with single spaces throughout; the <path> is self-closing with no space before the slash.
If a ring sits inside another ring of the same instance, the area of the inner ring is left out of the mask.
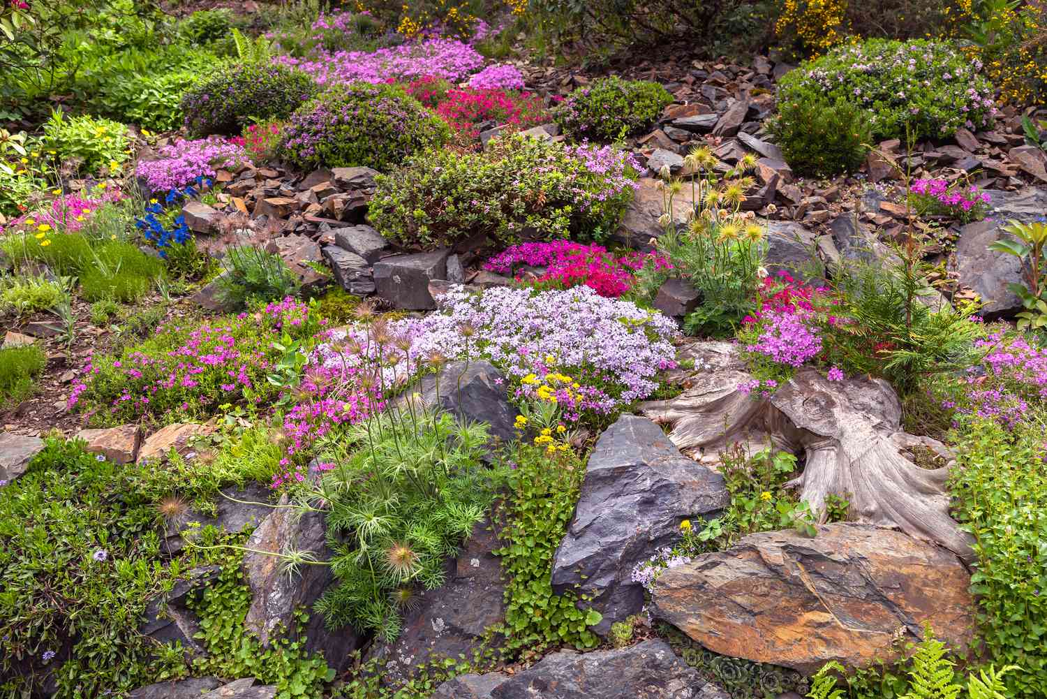
<path id="1" fill-rule="evenodd" d="M 683 350 L 695 369 L 677 372 L 688 388 L 669 400 L 641 406 L 641 414 L 671 428 L 669 439 L 692 458 L 731 443 L 773 445 L 804 457 L 789 485 L 825 521 L 825 498 L 847 498 L 859 522 L 896 527 L 971 562 L 971 538 L 949 516 L 948 467 L 921 468 L 903 453 L 933 443 L 901 430 L 901 405 L 883 379 L 830 381 L 812 369 L 766 399 L 738 386 L 752 379 L 734 346 L 694 343 Z M 942 450 L 944 447 L 941 447 Z"/>

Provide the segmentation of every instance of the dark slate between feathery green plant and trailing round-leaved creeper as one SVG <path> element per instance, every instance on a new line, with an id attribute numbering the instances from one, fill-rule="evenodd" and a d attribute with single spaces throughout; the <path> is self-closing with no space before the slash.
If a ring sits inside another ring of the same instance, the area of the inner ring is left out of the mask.
<path id="1" fill-rule="evenodd" d="M 409 679 L 419 663 L 472 657 L 481 637 L 505 616 L 505 585 L 494 532 L 485 521 L 473 527 L 456 559 L 447 562 L 447 582 L 419 591 L 418 606 L 404 614 L 403 631 L 392 643 L 377 642 L 370 654 L 384 658 L 383 681 Z M 464 695 L 469 696 L 469 695 Z"/>

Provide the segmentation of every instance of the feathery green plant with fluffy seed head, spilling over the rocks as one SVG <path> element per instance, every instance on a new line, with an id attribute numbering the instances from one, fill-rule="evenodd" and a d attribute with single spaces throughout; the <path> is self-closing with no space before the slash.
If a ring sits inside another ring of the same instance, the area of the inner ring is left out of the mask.
<path id="1" fill-rule="evenodd" d="M 316 606 L 332 628 L 395 639 L 419 588 L 444 582 L 447 556 L 505 481 L 481 461 L 486 441 L 487 425 L 414 405 L 324 440 L 319 458 L 333 468 L 315 495 L 330 504 L 328 531 L 346 536 L 331 560 L 338 586 Z"/>

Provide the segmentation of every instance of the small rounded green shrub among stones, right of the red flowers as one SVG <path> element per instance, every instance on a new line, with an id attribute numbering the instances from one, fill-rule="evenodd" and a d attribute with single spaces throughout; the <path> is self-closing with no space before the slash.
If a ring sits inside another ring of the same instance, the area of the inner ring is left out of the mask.
<path id="1" fill-rule="evenodd" d="M 610 141 L 648 128 L 671 103 L 658 83 L 611 77 L 576 89 L 553 116 L 569 136 Z"/>

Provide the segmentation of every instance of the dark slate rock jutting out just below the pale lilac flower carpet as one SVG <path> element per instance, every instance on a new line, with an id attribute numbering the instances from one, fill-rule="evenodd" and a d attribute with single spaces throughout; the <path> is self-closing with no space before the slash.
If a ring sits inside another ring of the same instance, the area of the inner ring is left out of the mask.
<path id="1" fill-rule="evenodd" d="M 510 442 L 517 413 L 505 386 L 505 375 L 488 362 L 451 362 L 440 371 L 440 407 L 460 419 L 487 422 L 492 438 Z M 437 405 L 436 374 L 423 376 L 418 392 L 426 405 Z"/>

